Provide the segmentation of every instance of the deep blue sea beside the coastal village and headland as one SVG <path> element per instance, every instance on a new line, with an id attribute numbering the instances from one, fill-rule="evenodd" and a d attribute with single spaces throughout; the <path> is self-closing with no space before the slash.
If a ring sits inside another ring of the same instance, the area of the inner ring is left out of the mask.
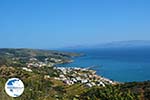
<path id="1" fill-rule="evenodd" d="M 64 67 L 90 67 L 98 75 L 119 82 L 150 80 L 150 48 L 84 49 L 74 52 L 84 56 L 73 58 Z"/>

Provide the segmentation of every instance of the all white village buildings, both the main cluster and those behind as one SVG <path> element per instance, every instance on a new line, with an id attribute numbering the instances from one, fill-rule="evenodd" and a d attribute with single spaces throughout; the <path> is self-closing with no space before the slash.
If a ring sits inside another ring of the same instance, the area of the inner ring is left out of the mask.
<path id="1" fill-rule="evenodd" d="M 79 67 L 56 67 L 55 65 L 61 64 L 63 61 L 56 58 L 45 58 L 44 62 L 39 61 L 36 58 L 30 58 L 29 62 L 26 63 L 26 67 L 23 70 L 32 72 L 31 68 L 38 67 L 53 67 L 55 70 L 59 71 L 59 76 L 54 77 L 56 80 L 60 80 L 66 85 L 73 85 L 76 83 L 84 84 L 86 87 L 93 86 L 103 86 L 110 84 L 117 84 L 117 82 L 110 79 L 98 76 L 96 71 L 89 68 L 79 68 Z M 45 75 L 46 78 L 50 78 L 49 75 Z"/>

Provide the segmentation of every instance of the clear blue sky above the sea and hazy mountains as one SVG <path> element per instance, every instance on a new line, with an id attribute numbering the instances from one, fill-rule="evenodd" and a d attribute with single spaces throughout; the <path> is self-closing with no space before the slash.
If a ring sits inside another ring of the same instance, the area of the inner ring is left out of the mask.
<path id="1" fill-rule="evenodd" d="M 0 0 L 0 48 L 150 40 L 150 0 Z"/>

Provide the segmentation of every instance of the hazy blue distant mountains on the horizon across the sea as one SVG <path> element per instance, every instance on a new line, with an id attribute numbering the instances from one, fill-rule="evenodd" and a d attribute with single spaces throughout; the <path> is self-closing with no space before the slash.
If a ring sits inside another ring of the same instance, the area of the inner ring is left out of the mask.
<path id="1" fill-rule="evenodd" d="M 130 41 L 114 41 L 110 43 L 101 43 L 92 46 L 79 45 L 68 47 L 69 50 L 78 49 L 117 49 L 117 48 L 150 48 L 150 40 L 130 40 Z"/>

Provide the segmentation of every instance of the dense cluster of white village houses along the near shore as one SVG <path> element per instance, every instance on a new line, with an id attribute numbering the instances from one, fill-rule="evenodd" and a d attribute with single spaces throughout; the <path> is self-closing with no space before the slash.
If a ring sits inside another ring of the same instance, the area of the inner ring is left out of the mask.
<path id="1" fill-rule="evenodd" d="M 56 80 L 61 80 L 67 85 L 73 85 L 75 83 L 84 84 L 87 87 L 103 86 L 109 84 L 117 84 L 117 82 L 110 79 L 98 76 L 96 71 L 86 68 L 66 68 L 66 67 L 54 67 L 60 70 L 59 77 L 55 77 Z"/>

